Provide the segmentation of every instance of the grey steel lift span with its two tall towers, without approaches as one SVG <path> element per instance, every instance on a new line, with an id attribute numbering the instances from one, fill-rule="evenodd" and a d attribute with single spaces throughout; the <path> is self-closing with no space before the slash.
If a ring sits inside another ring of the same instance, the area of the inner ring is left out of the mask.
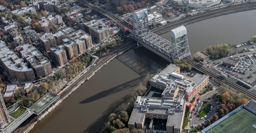
<path id="1" fill-rule="evenodd" d="M 192 58 L 185 26 L 179 26 L 171 30 L 172 42 L 169 42 L 149 31 L 147 9 L 133 14 L 133 32 L 130 37 L 169 61 L 173 59 L 180 60 L 185 57 Z"/>

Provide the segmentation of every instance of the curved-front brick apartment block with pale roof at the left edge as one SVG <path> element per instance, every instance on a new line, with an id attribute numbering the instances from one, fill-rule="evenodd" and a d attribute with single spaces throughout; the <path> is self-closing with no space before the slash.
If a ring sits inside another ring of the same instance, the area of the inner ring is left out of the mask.
<path id="1" fill-rule="evenodd" d="M 33 81 L 36 79 L 34 70 L 2 41 L 0 42 L 0 59 L 11 79 L 18 81 Z"/>

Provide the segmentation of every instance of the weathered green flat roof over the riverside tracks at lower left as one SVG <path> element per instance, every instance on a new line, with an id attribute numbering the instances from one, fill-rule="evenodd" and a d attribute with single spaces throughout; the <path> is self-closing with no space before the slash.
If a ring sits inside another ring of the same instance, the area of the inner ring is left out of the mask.
<path id="1" fill-rule="evenodd" d="M 57 100 L 60 96 L 48 92 L 42 98 L 40 98 L 36 103 L 34 103 L 30 110 L 34 111 L 35 114 L 39 115 L 42 111 L 44 111 L 50 104 L 52 104 L 55 100 Z"/>

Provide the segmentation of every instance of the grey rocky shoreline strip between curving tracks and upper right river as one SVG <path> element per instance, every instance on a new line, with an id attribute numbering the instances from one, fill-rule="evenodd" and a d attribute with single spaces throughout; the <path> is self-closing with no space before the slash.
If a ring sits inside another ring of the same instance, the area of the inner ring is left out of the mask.
<path id="1" fill-rule="evenodd" d="M 194 21 L 185 23 L 185 24 L 183 24 L 183 25 L 186 26 L 186 25 L 193 24 L 193 23 L 196 23 L 196 22 L 199 22 L 199 21 L 202 21 L 202 20 L 206 20 L 206 19 L 210 19 L 210 18 L 215 18 L 215 17 L 219 17 L 219 16 L 224 16 L 224 15 L 229 15 L 229 14 L 233 14 L 233 13 L 237 13 L 237 12 L 242 12 L 242 11 L 249 11 L 249 10 L 256 10 L 256 7 L 246 8 L 246 9 L 239 9 L 239 10 L 232 10 L 232 11 L 227 11 L 227 12 L 222 12 L 222 13 L 219 13 L 219 14 L 215 14 L 215 15 L 211 15 L 211 16 L 208 16 L 208 17 L 204 17 L 204 18 L 200 18 L 200 19 L 194 20 Z M 165 30 L 165 31 L 163 31 L 163 32 L 158 33 L 157 35 L 164 34 L 164 33 L 169 32 L 169 31 L 171 31 L 171 30 L 172 30 L 172 29 L 170 29 L 170 30 Z"/>

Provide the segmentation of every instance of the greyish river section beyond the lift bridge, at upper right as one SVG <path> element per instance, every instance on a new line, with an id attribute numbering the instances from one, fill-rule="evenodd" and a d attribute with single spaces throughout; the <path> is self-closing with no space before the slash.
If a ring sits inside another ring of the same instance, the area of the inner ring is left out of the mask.
<path id="1" fill-rule="evenodd" d="M 216 44 L 241 44 L 256 34 L 256 10 L 243 11 L 186 25 L 191 55 Z M 170 32 L 160 35 L 171 40 Z"/>

